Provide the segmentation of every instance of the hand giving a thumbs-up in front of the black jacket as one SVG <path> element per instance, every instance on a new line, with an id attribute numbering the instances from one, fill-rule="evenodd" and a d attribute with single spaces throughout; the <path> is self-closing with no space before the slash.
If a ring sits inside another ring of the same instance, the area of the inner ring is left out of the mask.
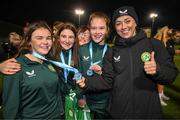
<path id="1" fill-rule="evenodd" d="M 148 75 L 154 75 L 157 72 L 157 64 L 154 59 L 154 51 L 151 52 L 151 60 L 144 63 L 144 71 Z"/>

